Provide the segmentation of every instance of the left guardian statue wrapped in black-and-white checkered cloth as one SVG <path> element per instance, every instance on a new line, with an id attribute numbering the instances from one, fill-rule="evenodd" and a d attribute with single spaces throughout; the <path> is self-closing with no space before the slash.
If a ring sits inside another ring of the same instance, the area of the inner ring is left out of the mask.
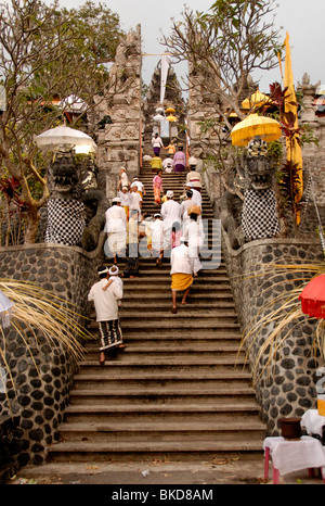
<path id="1" fill-rule="evenodd" d="M 48 169 L 50 199 L 44 242 L 96 248 L 108 201 L 98 189 L 98 168 L 91 156 L 60 152 Z"/>

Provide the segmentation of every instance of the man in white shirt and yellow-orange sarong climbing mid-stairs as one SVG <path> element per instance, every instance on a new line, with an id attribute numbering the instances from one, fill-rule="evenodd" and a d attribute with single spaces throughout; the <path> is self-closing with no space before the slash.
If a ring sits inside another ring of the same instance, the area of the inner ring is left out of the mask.
<path id="1" fill-rule="evenodd" d="M 193 283 L 192 262 L 188 254 L 187 242 L 181 239 L 181 245 L 171 250 L 170 256 L 170 275 L 171 275 L 171 313 L 177 313 L 177 292 L 184 291 L 182 305 L 186 304 L 186 298 Z"/>

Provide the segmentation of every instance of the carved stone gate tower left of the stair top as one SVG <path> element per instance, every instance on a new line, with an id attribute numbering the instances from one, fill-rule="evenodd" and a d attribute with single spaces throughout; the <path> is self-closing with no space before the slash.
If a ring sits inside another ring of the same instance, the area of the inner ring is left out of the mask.
<path id="1" fill-rule="evenodd" d="M 116 197 L 120 167 L 129 179 L 139 173 L 141 152 L 141 27 L 131 30 L 119 45 L 109 71 L 112 81 L 105 100 L 98 97 L 96 122 L 109 116 L 103 129 L 95 131 L 98 142 L 99 187 L 109 201 Z"/>

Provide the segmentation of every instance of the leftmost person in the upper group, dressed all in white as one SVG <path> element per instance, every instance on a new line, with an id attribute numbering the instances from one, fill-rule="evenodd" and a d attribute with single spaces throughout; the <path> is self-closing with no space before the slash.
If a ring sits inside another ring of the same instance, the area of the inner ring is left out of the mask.
<path id="1" fill-rule="evenodd" d="M 127 214 L 120 205 L 120 198 L 116 197 L 112 201 L 112 206 L 105 212 L 105 231 L 108 235 L 107 256 L 113 255 L 114 263 L 116 256 L 125 256 L 127 241 Z"/>

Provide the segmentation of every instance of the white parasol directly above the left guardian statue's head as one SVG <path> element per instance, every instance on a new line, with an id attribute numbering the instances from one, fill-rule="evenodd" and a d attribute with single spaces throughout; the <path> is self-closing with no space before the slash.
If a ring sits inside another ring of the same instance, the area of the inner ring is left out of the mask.
<path id="1" fill-rule="evenodd" d="M 44 151 L 55 151 L 60 147 L 84 146 L 96 151 L 96 144 L 87 134 L 75 128 L 60 126 L 50 128 L 36 137 L 36 144 Z"/>

